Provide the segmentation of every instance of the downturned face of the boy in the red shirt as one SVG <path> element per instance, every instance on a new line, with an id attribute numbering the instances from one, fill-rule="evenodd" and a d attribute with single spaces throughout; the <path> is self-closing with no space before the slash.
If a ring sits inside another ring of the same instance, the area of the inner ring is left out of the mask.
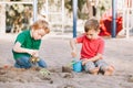
<path id="1" fill-rule="evenodd" d="M 89 40 L 95 40 L 99 36 L 99 31 L 90 30 L 90 31 L 85 32 L 85 34 Z"/>

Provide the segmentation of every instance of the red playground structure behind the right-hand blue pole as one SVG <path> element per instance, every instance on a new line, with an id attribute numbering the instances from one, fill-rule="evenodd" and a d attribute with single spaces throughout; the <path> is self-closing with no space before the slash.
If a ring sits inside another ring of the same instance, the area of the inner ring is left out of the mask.
<path id="1" fill-rule="evenodd" d="M 112 11 L 106 11 L 100 20 L 100 35 L 110 36 L 112 33 Z M 122 30 L 122 15 L 116 16 L 116 35 Z"/>

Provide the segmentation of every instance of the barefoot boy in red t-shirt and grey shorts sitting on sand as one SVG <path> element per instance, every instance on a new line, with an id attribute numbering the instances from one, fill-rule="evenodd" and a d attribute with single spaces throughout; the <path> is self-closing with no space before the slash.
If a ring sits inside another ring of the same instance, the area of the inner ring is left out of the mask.
<path id="1" fill-rule="evenodd" d="M 103 72 L 104 75 L 112 75 L 114 67 L 106 64 L 103 59 L 104 40 L 99 36 L 99 22 L 90 19 L 84 25 L 85 33 L 81 36 L 72 38 L 70 45 L 72 47 L 72 57 L 76 56 L 76 44 L 82 43 L 81 61 L 85 72 L 96 75 Z"/>

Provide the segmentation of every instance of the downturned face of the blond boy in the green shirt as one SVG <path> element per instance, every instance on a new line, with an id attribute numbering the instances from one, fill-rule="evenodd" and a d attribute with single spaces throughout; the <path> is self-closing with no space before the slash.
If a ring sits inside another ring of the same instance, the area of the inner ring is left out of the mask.
<path id="1" fill-rule="evenodd" d="M 43 29 L 32 30 L 32 37 L 34 40 L 41 40 L 45 34 L 47 33 Z"/>

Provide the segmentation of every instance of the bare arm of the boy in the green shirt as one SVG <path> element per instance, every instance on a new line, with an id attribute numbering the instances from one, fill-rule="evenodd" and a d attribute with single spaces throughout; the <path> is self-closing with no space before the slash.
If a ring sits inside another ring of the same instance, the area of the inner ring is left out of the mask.
<path id="1" fill-rule="evenodd" d="M 21 43 L 17 42 L 13 46 L 13 51 L 17 53 L 28 53 L 30 55 L 38 55 L 37 50 L 29 50 L 29 48 L 23 48 L 21 47 Z"/>

